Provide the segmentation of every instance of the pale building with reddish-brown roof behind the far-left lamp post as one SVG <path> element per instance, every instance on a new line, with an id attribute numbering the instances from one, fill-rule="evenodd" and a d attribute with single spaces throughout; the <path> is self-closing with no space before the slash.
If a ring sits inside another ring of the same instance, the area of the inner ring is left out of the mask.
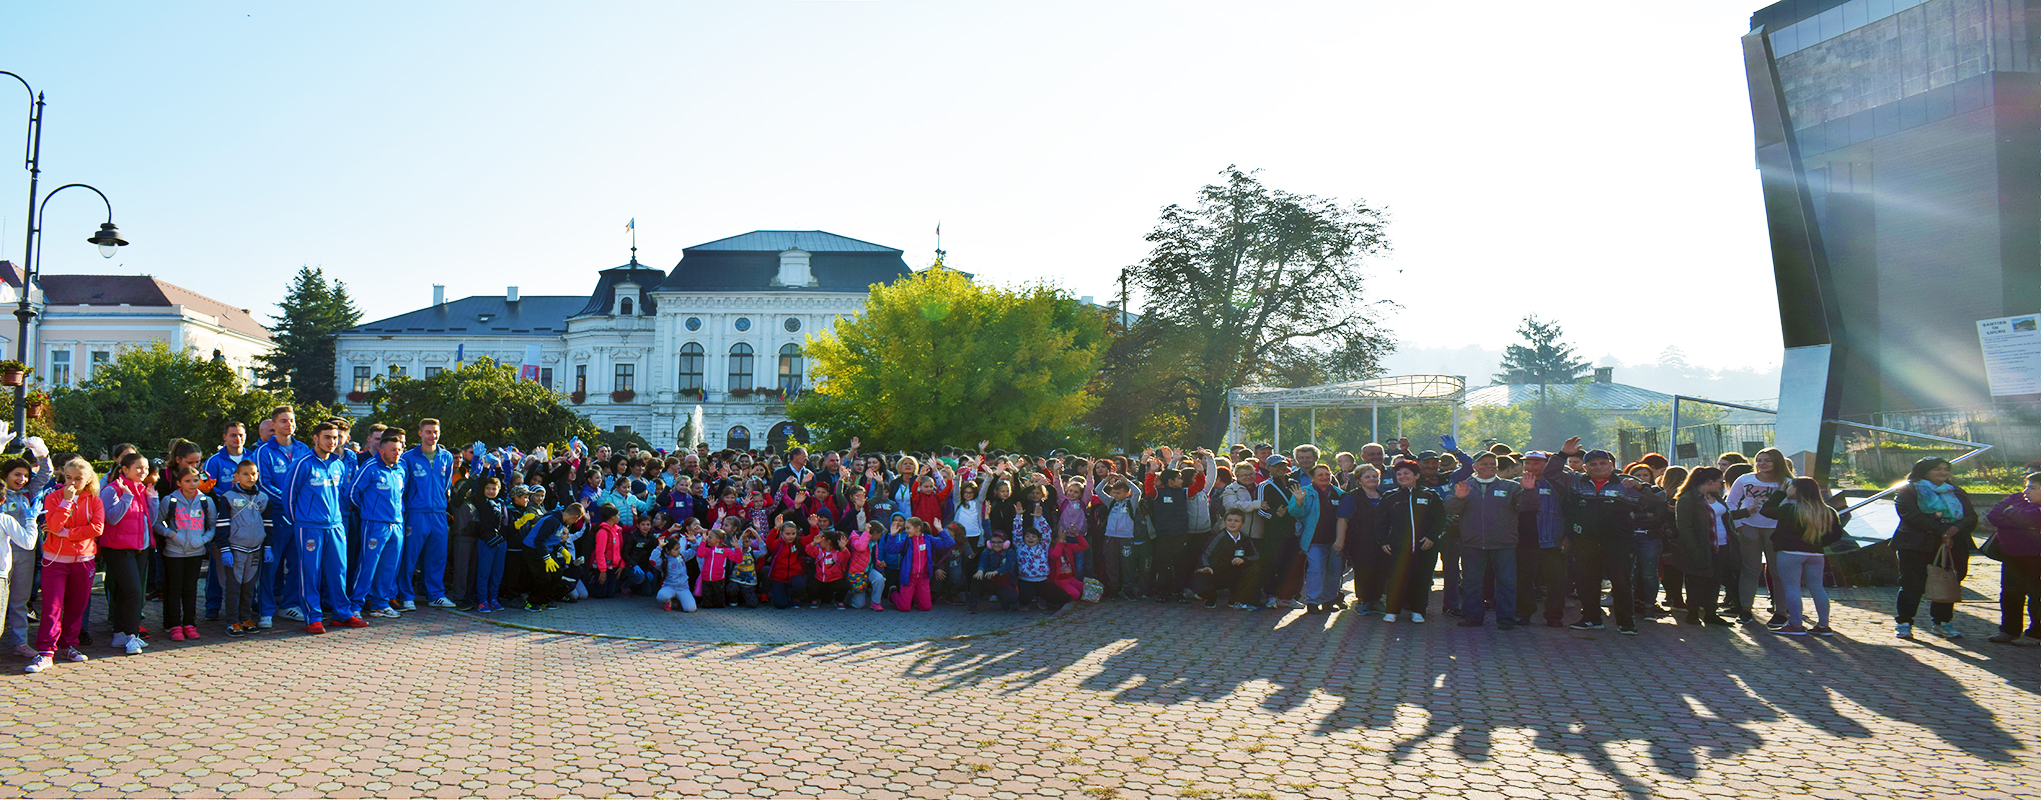
<path id="1" fill-rule="evenodd" d="M 20 276 L 0 261 L 0 304 L 20 302 Z M 78 386 L 120 351 L 161 341 L 171 351 L 229 363 L 245 382 L 255 359 L 271 353 L 269 329 L 237 308 L 149 276 L 37 276 L 29 302 L 29 365 L 49 386 Z M 14 357 L 14 327 L 6 329 Z"/>

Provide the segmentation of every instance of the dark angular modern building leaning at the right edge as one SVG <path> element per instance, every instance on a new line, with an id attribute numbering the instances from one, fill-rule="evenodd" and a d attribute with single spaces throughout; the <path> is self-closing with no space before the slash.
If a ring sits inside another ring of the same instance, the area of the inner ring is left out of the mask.
<path id="1" fill-rule="evenodd" d="M 1788 0 L 1743 49 L 1788 384 L 1819 347 L 1829 418 L 1990 406 L 1976 322 L 2041 312 L 2041 0 Z"/>

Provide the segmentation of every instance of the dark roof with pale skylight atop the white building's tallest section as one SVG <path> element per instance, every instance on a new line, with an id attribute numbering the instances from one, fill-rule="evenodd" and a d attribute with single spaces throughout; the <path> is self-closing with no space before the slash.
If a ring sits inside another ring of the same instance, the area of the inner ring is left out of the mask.
<path id="1" fill-rule="evenodd" d="M 816 286 L 774 286 L 780 253 L 808 251 Z M 751 231 L 680 251 L 663 292 L 865 292 L 912 273 L 898 249 L 827 231 Z"/>

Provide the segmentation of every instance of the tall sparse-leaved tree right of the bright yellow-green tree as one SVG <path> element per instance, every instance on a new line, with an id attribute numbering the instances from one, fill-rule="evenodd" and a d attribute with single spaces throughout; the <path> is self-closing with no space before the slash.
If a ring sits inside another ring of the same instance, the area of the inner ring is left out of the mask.
<path id="1" fill-rule="evenodd" d="M 1169 359 L 1147 361 L 1159 376 L 1125 382 L 1149 396 L 1116 404 L 1182 416 L 1196 445 L 1223 437 L 1229 388 L 1370 378 L 1394 349 L 1376 324 L 1382 304 L 1361 292 L 1361 263 L 1390 249 L 1388 214 L 1276 190 L 1239 167 L 1221 176 L 1194 204 L 1161 210 L 1153 249 L 1127 276 L 1145 296 L 1129 335 Z"/>

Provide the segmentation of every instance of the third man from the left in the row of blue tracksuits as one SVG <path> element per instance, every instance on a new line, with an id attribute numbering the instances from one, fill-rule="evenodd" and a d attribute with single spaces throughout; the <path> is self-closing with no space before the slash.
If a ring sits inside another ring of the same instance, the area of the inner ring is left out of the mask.
<path id="1" fill-rule="evenodd" d="M 312 455 L 298 459 L 284 480 L 286 514 L 292 520 L 292 557 L 298 588 L 298 608 L 304 610 L 304 633 L 327 633 L 320 620 L 320 600 L 331 602 L 339 624 L 365 629 L 361 610 L 347 600 L 347 527 L 341 518 L 341 484 L 347 482 L 347 461 L 341 453 L 341 429 L 318 422 L 312 429 Z"/>

